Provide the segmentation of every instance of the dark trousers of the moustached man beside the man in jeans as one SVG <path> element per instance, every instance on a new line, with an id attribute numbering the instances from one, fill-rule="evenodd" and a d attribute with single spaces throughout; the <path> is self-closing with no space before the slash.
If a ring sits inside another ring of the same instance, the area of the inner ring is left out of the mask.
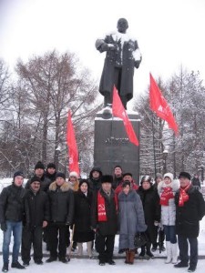
<path id="1" fill-rule="evenodd" d="M 34 248 L 34 260 L 39 261 L 43 258 L 42 252 L 42 227 L 23 227 L 21 257 L 24 262 L 29 262 L 31 259 L 31 246 Z"/>

